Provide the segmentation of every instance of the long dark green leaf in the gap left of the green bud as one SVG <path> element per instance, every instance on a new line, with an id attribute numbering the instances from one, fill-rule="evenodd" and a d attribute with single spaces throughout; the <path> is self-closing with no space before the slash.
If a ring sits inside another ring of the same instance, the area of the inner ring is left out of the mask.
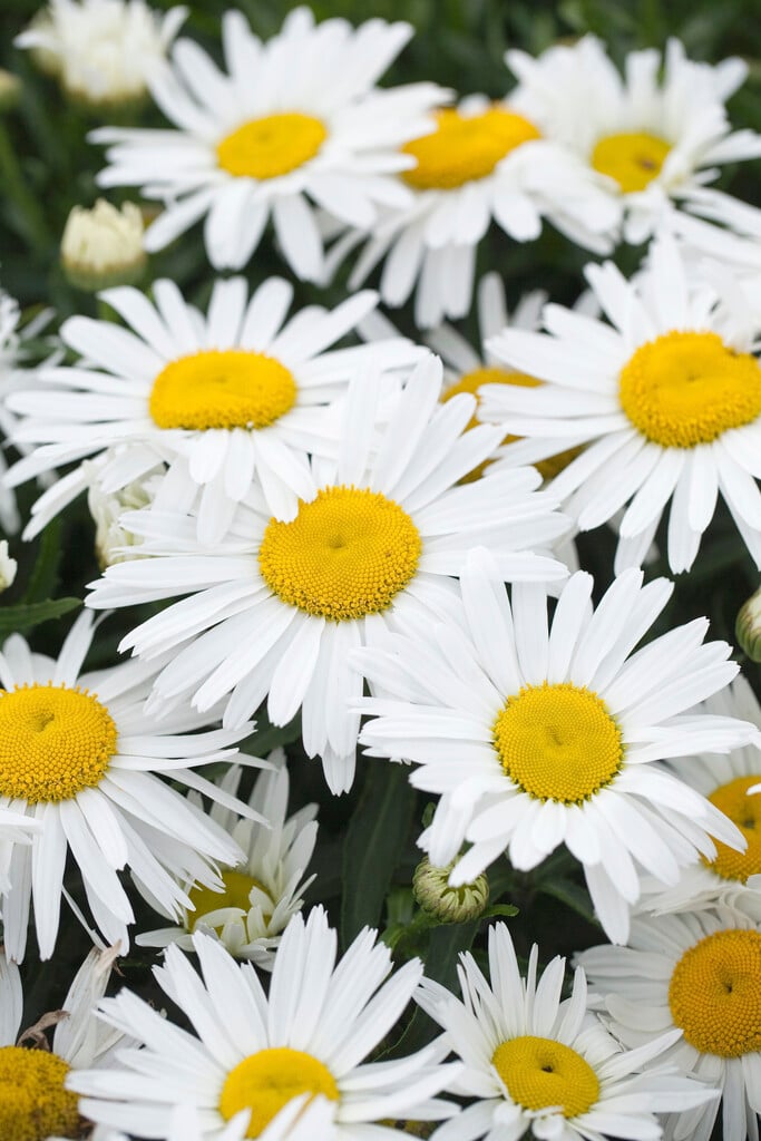
<path id="1" fill-rule="evenodd" d="M 415 792 L 402 764 L 366 763 L 365 784 L 343 842 L 341 938 L 346 947 L 363 926 L 379 926 L 383 900 L 403 853 Z"/>

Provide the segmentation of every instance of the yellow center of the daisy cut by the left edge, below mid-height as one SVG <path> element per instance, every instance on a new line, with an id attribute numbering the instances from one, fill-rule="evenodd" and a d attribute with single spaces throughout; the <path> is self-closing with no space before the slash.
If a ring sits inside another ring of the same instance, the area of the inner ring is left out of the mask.
<path id="1" fill-rule="evenodd" d="M 0 795 L 71 800 L 95 788 L 116 752 L 116 726 L 90 694 L 65 686 L 0 689 Z"/>

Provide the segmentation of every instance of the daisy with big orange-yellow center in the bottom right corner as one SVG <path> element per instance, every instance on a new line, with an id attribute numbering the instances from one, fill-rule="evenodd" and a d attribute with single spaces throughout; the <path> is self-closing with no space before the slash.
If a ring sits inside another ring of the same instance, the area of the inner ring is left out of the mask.
<path id="1" fill-rule="evenodd" d="M 641 1046 L 673 1028 L 664 1061 L 721 1091 L 722 1136 L 756 1141 L 761 1114 L 761 928 L 732 908 L 632 922 L 626 947 L 577 956 L 616 1037 Z M 666 1118 L 666 1141 L 707 1141 L 709 1102 Z"/>

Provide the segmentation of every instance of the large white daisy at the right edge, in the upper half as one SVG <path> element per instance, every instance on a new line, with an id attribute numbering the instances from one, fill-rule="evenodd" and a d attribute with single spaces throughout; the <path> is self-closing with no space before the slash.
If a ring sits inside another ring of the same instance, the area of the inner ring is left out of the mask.
<path id="1" fill-rule="evenodd" d="M 550 305 L 547 333 L 507 329 L 489 341 L 547 381 L 481 389 L 483 419 L 524 437 L 500 464 L 525 463 L 527 447 L 536 458 L 585 444 L 550 486 L 581 531 L 628 504 L 617 570 L 641 564 L 669 501 L 669 564 L 688 570 L 719 493 L 761 566 L 761 315 L 729 267 L 689 275 L 665 236 L 634 282 L 610 262 L 586 276 L 610 324 Z"/>

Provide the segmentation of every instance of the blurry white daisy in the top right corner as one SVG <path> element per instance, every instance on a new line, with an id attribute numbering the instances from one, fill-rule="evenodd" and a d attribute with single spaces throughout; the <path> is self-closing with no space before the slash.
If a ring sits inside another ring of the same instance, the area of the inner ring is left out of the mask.
<path id="1" fill-rule="evenodd" d="M 734 200 L 705 184 L 722 164 L 761 155 L 761 136 L 732 131 L 724 107 L 747 75 L 742 59 L 694 63 L 670 40 L 663 59 L 653 48 L 630 52 L 622 76 L 605 46 L 585 35 L 537 59 L 512 50 L 505 60 L 519 81 L 513 106 L 601 176 L 624 241 L 647 241 L 675 207 L 694 201 L 701 212 L 711 203 L 732 227 Z"/>

